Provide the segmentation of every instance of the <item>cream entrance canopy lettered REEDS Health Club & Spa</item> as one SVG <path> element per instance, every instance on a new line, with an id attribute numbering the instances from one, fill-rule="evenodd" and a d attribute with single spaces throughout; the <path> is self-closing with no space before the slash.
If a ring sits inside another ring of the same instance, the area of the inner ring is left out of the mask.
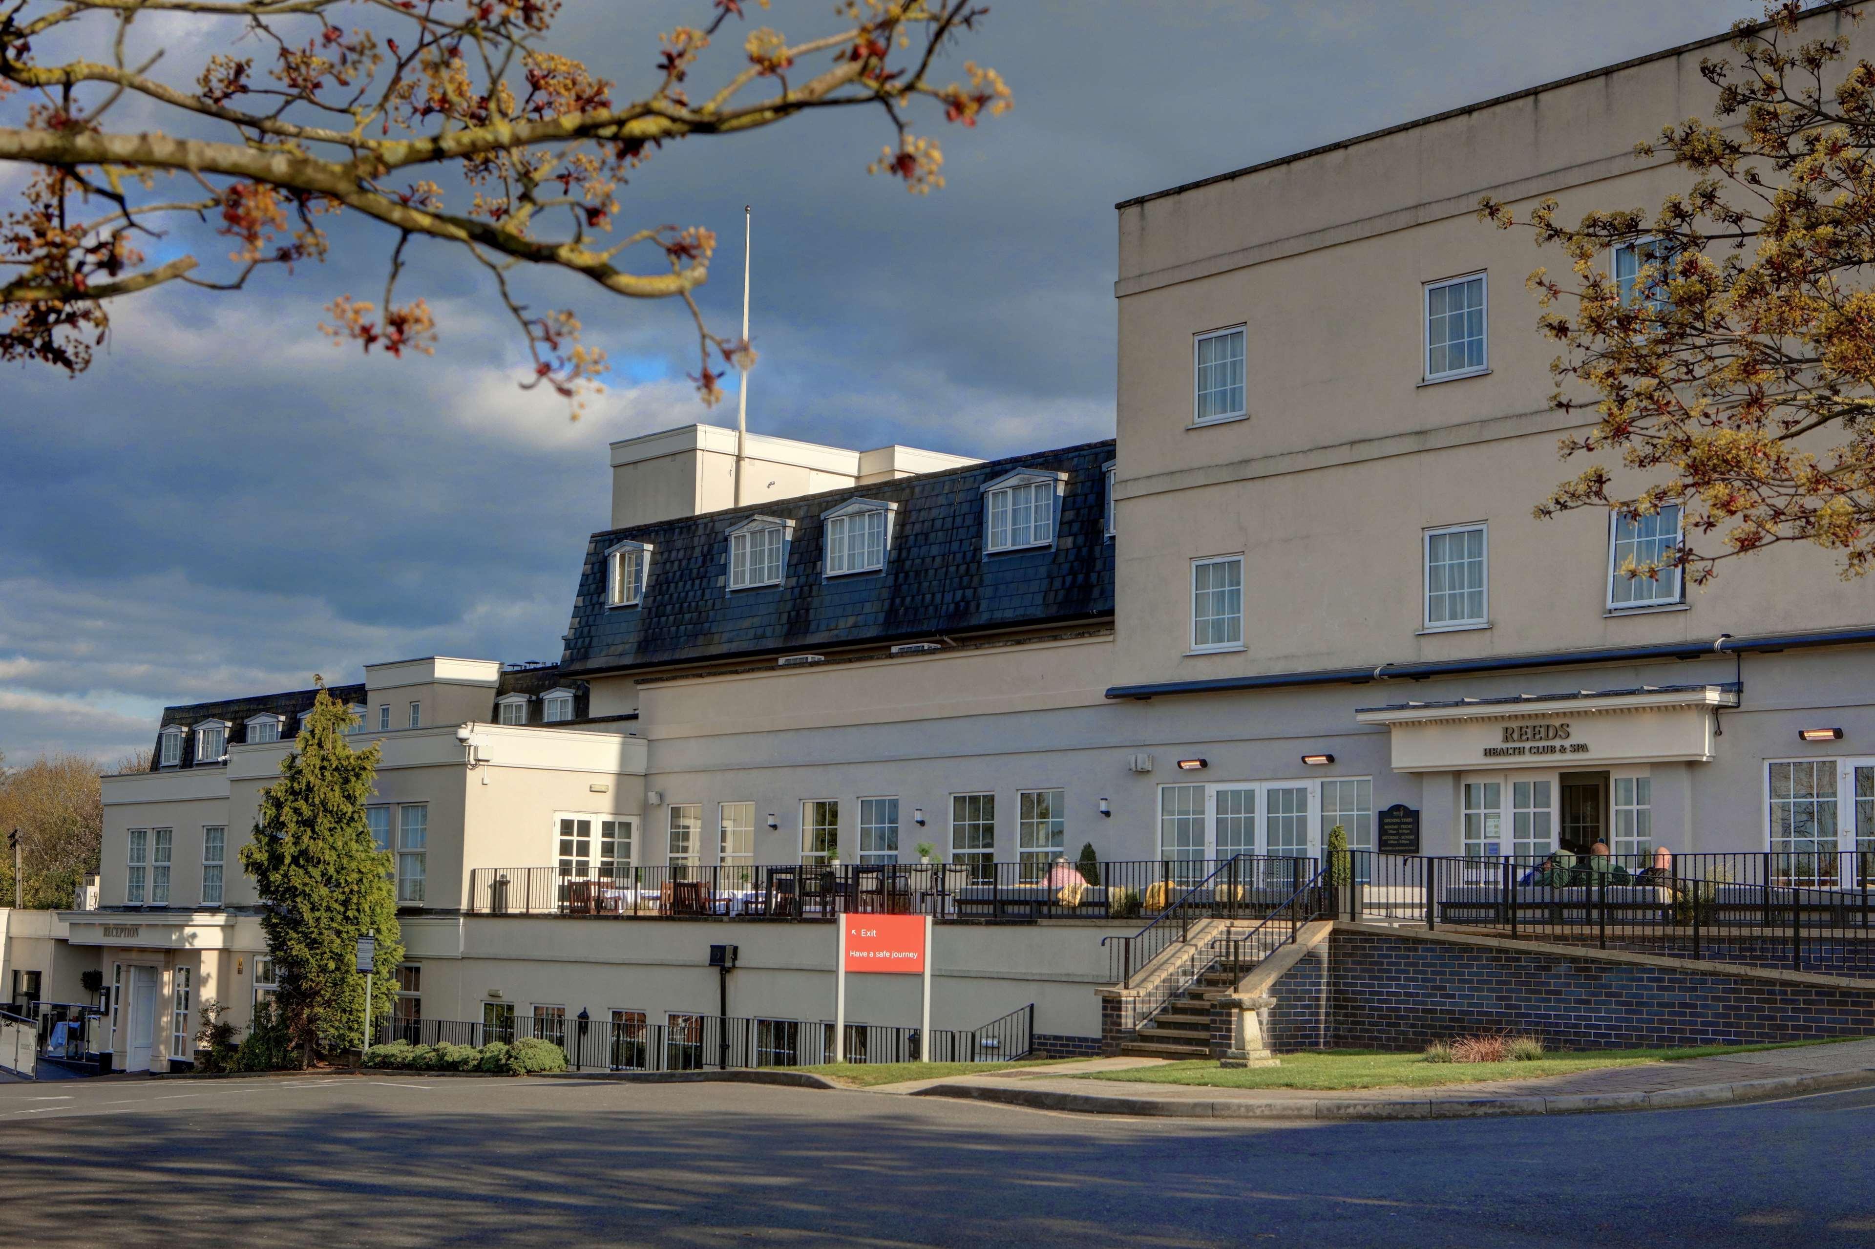
<path id="1" fill-rule="evenodd" d="M 1642 685 L 1361 707 L 1356 720 L 1391 730 L 1395 773 L 1577 769 L 1710 763 L 1716 713 L 1736 705 L 1736 685 Z"/>

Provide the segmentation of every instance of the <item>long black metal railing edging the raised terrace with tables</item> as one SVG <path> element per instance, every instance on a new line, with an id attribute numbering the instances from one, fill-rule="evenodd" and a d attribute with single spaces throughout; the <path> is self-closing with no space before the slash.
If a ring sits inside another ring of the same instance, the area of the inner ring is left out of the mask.
<path id="1" fill-rule="evenodd" d="M 1309 859 L 1067 859 L 1016 863 L 786 863 L 728 866 L 474 868 L 474 915 L 589 915 L 613 919 L 831 921 L 840 911 L 892 911 L 939 921 L 1136 919 L 1159 915 L 1217 880 L 1204 906 L 1260 917 Z M 1191 902 L 1196 906 L 1196 902 Z"/>

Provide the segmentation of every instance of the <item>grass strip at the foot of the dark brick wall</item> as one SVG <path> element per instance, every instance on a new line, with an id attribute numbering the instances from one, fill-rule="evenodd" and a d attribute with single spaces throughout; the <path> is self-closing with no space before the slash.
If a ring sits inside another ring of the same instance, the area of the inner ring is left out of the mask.
<path id="1" fill-rule="evenodd" d="M 1851 1037 L 1841 1037 L 1843 1041 Z M 1794 1045 L 1828 1045 L 1798 1041 Z M 1429 1063 L 1423 1054 L 1382 1050 L 1312 1050 L 1282 1054 L 1281 1067 L 1219 1067 L 1215 1061 L 1166 1063 L 1132 1071 L 1089 1071 L 1076 1080 L 1121 1080 L 1132 1084 L 1209 1084 L 1215 1088 L 1431 1088 L 1481 1080 L 1528 1080 L 1569 1075 L 1596 1067 L 1641 1067 L 1684 1058 L 1785 1050 L 1794 1045 L 1708 1045 L 1680 1050 L 1558 1050 L 1522 1063 Z"/>

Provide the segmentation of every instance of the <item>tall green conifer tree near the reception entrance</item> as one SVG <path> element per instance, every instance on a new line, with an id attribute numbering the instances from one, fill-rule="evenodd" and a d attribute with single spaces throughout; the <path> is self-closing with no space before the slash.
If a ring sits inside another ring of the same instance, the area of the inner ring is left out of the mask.
<path id="1" fill-rule="evenodd" d="M 390 1013 L 403 960 L 390 851 L 373 844 L 366 820 L 379 748 L 352 750 L 352 724 L 321 681 L 279 780 L 261 791 L 253 836 L 240 851 L 264 908 L 261 928 L 279 977 L 281 1022 L 306 1061 L 360 1039 L 358 938 L 377 936 L 373 1024 Z"/>

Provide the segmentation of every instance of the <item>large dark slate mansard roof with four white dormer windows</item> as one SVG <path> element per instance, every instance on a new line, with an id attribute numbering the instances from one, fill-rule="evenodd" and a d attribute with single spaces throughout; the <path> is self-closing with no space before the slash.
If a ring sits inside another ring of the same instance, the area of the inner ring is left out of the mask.
<path id="1" fill-rule="evenodd" d="M 928 640 L 1114 613 L 1106 465 L 1114 441 L 846 486 L 703 516 L 608 529 L 587 542 L 561 671 L 594 673 L 814 647 Z M 984 486 L 1065 474 L 1052 546 L 984 555 Z M 896 503 L 885 568 L 827 578 L 821 516 L 853 499 Z M 782 583 L 729 591 L 729 531 L 793 521 Z M 652 548 L 643 600 L 606 606 L 606 551 Z"/>

